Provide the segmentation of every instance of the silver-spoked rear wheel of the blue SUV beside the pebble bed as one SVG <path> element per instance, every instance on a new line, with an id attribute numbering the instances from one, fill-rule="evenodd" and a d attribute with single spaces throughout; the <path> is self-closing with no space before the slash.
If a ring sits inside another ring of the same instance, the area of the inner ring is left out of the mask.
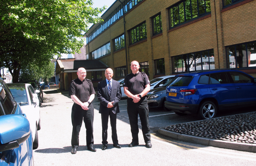
<path id="1" fill-rule="evenodd" d="M 216 116 L 217 107 L 212 101 L 205 101 L 201 104 L 199 115 L 202 119 L 211 119 Z"/>

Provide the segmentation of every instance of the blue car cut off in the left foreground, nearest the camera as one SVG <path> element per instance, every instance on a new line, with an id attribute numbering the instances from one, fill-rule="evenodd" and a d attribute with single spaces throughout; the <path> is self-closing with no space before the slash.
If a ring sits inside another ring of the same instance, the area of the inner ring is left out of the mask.
<path id="1" fill-rule="evenodd" d="M 0 166 L 34 165 L 29 121 L 0 77 Z"/>

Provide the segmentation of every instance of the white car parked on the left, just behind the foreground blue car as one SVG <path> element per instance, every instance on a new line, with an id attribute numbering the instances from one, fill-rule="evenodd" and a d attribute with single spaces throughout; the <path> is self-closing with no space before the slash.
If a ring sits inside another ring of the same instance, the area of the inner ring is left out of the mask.
<path id="1" fill-rule="evenodd" d="M 26 114 L 32 131 L 33 149 L 38 148 L 37 130 L 41 129 L 40 109 L 38 95 L 39 90 L 34 90 L 30 84 L 7 84 L 14 100 L 20 105 L 22 112 Z"/>

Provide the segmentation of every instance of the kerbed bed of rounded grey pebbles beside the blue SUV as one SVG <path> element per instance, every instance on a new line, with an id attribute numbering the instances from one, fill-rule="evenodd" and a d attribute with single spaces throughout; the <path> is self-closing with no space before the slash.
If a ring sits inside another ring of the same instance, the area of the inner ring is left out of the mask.
<path id="1" fill-rule="evenodd" d="M 256 112 L 174 124 L 165 129 L 202 138 L 256 144 Z"/>

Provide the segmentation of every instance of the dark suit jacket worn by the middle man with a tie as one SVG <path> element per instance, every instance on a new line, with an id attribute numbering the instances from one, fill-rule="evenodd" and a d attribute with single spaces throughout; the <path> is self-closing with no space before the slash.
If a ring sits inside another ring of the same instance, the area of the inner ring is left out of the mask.
<path id="1" fill-rule="evenodd" d="M 118 81 L 112 79 L 111 92 L 109 94 L 108 85 L 106 79 L 98 83 L 98 95 L 97 98 L 100 101 L 99 113 L 109 113 L 111 110 L 113 113 L 119 113 L 118 102 L 121 100 L 122 92 Z M 112 108 L 107 108 L 108 103 L 114 101 Z"/>

